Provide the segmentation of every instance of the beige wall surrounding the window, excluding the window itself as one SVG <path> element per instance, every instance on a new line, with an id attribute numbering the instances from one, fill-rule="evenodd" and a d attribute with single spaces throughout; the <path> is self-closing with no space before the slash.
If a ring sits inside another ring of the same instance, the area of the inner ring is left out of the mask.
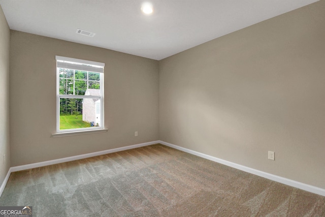
<path id="1" fill-rule="evenodd" d="M 10 46 L 11 166 L 158 140 L 156 60 L 15 30 Z M 105 63 L 107 133 L 50 137 L 56 131 L 55 55 Z"/>

